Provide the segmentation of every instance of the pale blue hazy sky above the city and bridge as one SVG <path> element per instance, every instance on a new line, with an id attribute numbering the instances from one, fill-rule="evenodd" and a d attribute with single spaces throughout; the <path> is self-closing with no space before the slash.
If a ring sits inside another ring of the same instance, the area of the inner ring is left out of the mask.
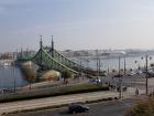
<path id="1" fill-rule="evenodd" d="M 0 52 L 154 49 L 154 0 L 0 0 Z"/>

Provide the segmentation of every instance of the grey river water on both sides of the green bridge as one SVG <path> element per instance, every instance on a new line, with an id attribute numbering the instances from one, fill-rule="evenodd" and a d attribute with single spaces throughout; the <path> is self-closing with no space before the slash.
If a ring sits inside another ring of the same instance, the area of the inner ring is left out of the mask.
<path id="1" fill-rule="evenodd" d="M 129 56 L 125 57 L 125 67 L 127 70 L 130 68 L 138 68 L 139 66 L 143 67 L 145 66 L 145 56 L 141 59 L 142 56 Z M 152 59 L 148 56 L 148 65 L 154 63 L 154 55 L 151 55 Z M 77 63 L 81 63 L 85 67 L 91 67 L 97 68 L 97 60 L 88 60 L 89 57 L 72 57 L 73 61 Z M 119 68 L 119 59 L 118 57 L 108 57 L 103 59 L 100 57 L 100 68 L 101 71 L 109 70 L 110 72 L 112 70 Z M 0 61 L 1 62 L 1 61 Z M 121 57 L 120 60 L 120 68 L 124 68 L 124 59 Z M 15 87 L 24 86 L 28 82 L 24 80 L 24 76 L 22 75 L 21 71 L 16 66 L 0 66 L 0 88 L 13 88 Z"/>

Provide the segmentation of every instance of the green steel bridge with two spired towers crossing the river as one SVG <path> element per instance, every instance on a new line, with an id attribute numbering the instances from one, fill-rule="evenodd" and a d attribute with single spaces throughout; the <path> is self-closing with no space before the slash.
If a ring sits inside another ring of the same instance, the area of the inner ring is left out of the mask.
<path id="1" fill-rule="evenodd" d="M 22 54 L 22 53 L 21 53 Z M 31 56 L 19 56 L 19 61 L 32 61 L 38 65 L 41 71 L 45 70 L 55 70 L 58 72 L 63 72 L 64 70 L 68 70 L 74 74 L 87 73 L 86 67 L 80 64 L 70 61 L 58 51 L 54 49 L 54 42 L 52 40 L 52 46 L 44 46 L 42 42 L 42 36 L 40 41 L 40 50 L 37 53 Z"/>

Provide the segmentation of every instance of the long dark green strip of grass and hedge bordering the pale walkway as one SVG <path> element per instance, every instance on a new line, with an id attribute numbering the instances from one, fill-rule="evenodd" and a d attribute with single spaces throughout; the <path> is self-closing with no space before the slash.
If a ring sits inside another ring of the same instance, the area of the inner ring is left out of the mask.
<path id="1" fill-rule="evenodd" d="M 35 91 L 31 89 L 24 93 L 3 94 L 3 97 L 0 97 L 0 102 L 2 103 L 2 102 L 12 102 L 12 101 L 22 101 L 22 99 L 33 99 L 33 98 L 88 93 L 88 92 L 97 92 L 97 91 L 109 91 L 109 87 L 98 86 L 92 84 L 78 84 L 78 85 L 70 85 L 70 86 L 65 86 L 59 88 L 52 87 L 52 88 L 35 89 Z"/>

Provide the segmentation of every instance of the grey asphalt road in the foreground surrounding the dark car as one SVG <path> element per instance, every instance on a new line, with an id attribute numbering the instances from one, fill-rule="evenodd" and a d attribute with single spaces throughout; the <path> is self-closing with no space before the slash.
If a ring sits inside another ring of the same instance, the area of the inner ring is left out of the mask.
<path id="1" fill-rule="evenodd" d="M 28 112 L 20 114 L 10 114 L 6 116 L 124 116 L 129 107 L 134 105 L 135 99 L 118 99 L 89 104 L 90 110 L 87 113 L 68 114 L 68 107 L 57 109 L 45 109 L 38 112 Z"/>

